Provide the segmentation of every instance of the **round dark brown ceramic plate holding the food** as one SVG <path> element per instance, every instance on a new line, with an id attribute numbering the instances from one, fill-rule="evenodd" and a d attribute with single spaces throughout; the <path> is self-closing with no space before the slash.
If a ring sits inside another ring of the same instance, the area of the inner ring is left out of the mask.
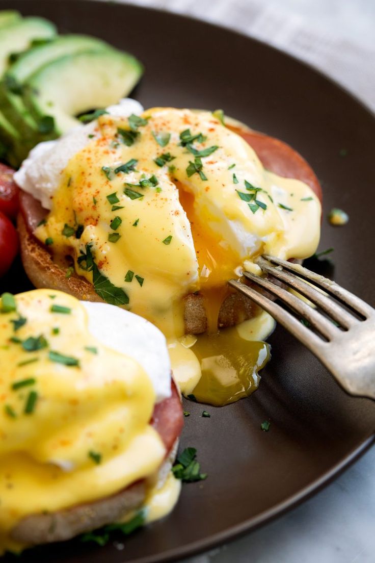
<path id="1" fill-rule="evenodd" d="M 279 137 L 310 162 L 323 185 L 324 214 L 350 213 L 341 229 L 323 220 L 320 248 L 334 247 L 335 279 L 375 304 L 373 166 L 375 120 L 336 84 L 243 35 L 186 17 L 112 2 L 9 0 L 0 8 L 43 15 L 61 32 L 102 37 L 134 53 L 146 74 L 134 96 L 146 107 L 223 108 Z M 340 150 L 346 149 L 346 157 Z M 1 290 L 30 284 L 15 266 Z M 225 408 L 189 403 L 182 446 L 198 449 L 209 477 L 183 487 L 165 520 L 139 530 L 118 551 L 70 542 L 21 561 L 171 561 L 249 531 L 326 484 L 373 441 L 375 403 L 353 399 L 282 328 L 260 388 Z M 269 432 L 261 422 L 269 420 Z"/>

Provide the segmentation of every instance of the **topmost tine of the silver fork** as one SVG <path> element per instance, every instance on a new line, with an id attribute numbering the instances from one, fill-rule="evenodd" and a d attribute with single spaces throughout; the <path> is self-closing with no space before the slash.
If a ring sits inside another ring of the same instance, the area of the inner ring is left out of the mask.
<path id="1" fill-rule="evenodd" d="M 332 280 L 328 278 L 324 278 L 324 276 L 315 274 L 315 272 L 311 272 L 299 264 L 287 262 L 286 260 L 281 260 L 281 258 L 276 258 L 275 256 L 270 256 L 269 254 L 264 254 L 263 258 L 266 258 L 266 260 L 269 260 L 274 264 L 282 266 L 290 272 L 294 272 L 297 276 L 302 276 L 303 278 L 311 280 L 311 282 L 314 282 L 322 287 L 324 291 L 331 294 L 333 297 L 336 297 L 339 301 L 344 303 L 344 305 L 347 305 L 354 311 L 359 312 L 359 314 L 363 315 L 366 319 L 374 311 L 373 308 L 365 301 L 356 297 L 353 293 L 350 293 L 350 291 L 341 287 L 341 285 L 338 285 L 336 282 L 332 282 Z"/>

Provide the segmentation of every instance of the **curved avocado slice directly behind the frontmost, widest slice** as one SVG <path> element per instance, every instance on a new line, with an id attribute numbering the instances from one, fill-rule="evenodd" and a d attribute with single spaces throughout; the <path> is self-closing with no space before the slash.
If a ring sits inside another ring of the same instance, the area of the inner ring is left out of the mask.
<path id="1" fill-rule="evenodd" d="M 47 62 L 91 48 L 100 50 L 110 47 L 96 37 L 63 35 L 21 53 L 10 65 L 0 83 L 0 110 L 22 135 L 29 137 L 40 133 L 39 123 L 31 116 L 21 97 L 25 81 Z"/>

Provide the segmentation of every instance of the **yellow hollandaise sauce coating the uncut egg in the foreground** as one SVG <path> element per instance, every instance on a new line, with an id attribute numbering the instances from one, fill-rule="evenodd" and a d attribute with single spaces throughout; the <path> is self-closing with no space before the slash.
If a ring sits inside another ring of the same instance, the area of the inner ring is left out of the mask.
<path id="1" fill-rule="evenodd" d="M 78 300 L 39 289 L 4 294 L 0 311 L 1 553 L 24 547 L 12 539 L 24 517 L 155 476 L 165 447 L 150 378 L 88 332 Z"/>

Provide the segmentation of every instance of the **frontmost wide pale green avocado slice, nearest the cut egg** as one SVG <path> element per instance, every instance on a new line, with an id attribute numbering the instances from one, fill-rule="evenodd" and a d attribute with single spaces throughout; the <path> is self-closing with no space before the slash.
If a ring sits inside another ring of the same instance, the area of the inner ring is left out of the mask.
<path id="1" fill-rule="evenodd" d="M 127 96 L 142 73 L 135 57 L 114 48 L 75 53 L 34 73 L 26 81 L 24 99 L 35 118 L 51 115 L 61 134 L 80 123 L 75 115 Z"/>

